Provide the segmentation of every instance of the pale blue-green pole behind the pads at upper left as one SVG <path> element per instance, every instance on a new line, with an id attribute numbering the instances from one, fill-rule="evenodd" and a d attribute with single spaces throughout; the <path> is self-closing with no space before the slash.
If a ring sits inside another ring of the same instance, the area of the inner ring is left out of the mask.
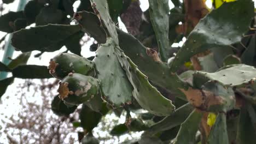
<path id="1" fill-rule="evenodd" d="M 26 3 L 27 3 L 27 0 L 20 0 L 16 11 L 23 10 L 25 8 Z M 11 37 L 13 37 L 12 33 L 8 34 L 8 37 L 5 38 L 5 40 L 7 41 L 4 46 L 4 55 L 3 55 L 2 63 L 6 65 L 10 63 L 9 57 L 11 58 L 14 52 L 14 47 L 11 45 Z M 0 72 L 0 80 L 5 79 L 6 77 L 7 77 L 6 72 L 3 72 L 3 71 Z"/>

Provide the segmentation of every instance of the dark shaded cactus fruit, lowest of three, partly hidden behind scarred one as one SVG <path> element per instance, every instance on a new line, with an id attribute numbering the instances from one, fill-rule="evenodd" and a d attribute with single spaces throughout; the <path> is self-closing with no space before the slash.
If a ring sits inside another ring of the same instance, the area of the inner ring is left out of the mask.
<path id="1" fill-rule="evenodd" d="M 51 101 L 51 110 L 57 116 L 68 116 L 69 114 L 73 113 L 77 109 L 76 105 L 72 107 L 68 107 L 64 104 L 64 102 L 59 98 L 59 95 L 56 95 Z"/>

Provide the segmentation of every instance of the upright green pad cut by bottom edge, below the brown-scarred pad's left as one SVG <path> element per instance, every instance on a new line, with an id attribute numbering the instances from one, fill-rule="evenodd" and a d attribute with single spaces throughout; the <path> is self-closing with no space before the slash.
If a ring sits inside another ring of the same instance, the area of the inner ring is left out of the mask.
<path id="1" fill-rule="evenodd" d="M 174 144 L 178 143 L 194 143 L 195 135 L 199 129 L 202 113 L 194 110 L 188 118 L 181 124 L 181 128 L 176 136 Z"/>

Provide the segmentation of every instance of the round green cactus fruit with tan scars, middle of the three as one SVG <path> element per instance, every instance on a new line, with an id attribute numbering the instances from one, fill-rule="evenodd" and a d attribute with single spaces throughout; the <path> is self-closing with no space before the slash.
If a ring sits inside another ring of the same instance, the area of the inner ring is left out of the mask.
<path id="1" fill-rule="evenodd" d="M 98 88 L 99 82 L 93 77 L 69 73 L 60 82 L 58 92 L 67 104 L 79 105 L 93 98 Z"/>

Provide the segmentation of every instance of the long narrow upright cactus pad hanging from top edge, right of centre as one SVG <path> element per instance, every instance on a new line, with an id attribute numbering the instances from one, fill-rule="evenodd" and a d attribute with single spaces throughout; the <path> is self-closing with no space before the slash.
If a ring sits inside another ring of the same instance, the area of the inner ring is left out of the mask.
<path id="1" fill-rule="evenodd" d="M 149 13 L 156 39 L 158 41 L 158 49 L 162 61 L 167 62 L 169 53 L 169 18 L 170 11 L 168 0 L 149 0 Z"/>

